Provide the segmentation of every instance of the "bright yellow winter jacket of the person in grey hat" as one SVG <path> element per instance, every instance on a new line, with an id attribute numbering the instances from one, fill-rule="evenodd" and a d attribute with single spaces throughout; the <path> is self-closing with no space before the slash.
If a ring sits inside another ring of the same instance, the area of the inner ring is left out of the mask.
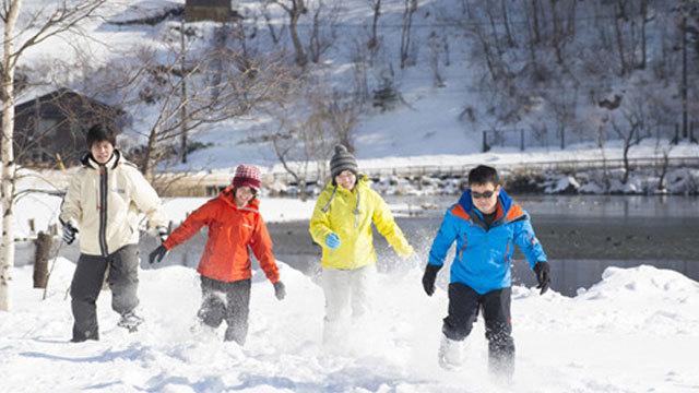
<path id="1" fill-rule="evenodd" d="M 414 253 L 383 199 L 369 188 L 366 175 L 359 174 L 357 178 L 352 191 L 341 186 L 335 190 L 335 186 L 329 183 L 316 201 L 309 231 L 313 241 L 323 248 L 323 267 L 351 270 L 376 263 L 371 223 L 403 258 Z M 331 233 L 337 234 L 341 240 L 334 250 L 325 246 L 325 236 Z"/>

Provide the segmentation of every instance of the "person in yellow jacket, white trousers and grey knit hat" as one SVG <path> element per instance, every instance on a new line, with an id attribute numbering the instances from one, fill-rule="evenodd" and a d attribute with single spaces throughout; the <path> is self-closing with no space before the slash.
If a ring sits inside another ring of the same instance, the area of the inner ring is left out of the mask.
<path id="1" fill-rule="evenodd" d="M 336 145 L 330 160 L 332 181 L 320 193 L 309 231 L 322 252 L 322 287 L 325 296 L 323 344 L 346 336 L 347 319 L 357 321 L 369 309 L 369 296 L 377 275 L 371 224 L 389 245 L 410 260 L 418 258 L 383 199 L 359 174 L 357 160 L 343 145 Z"/>

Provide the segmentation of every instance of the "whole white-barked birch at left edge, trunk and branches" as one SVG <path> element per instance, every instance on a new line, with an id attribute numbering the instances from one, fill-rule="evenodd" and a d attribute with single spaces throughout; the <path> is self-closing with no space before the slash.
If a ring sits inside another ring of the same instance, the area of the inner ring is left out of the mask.
<path id="1" fill-rule="evenodd" d="M 2 45 L 2 261 L 0 262 L 0 310 L 12 308 L 11 288 L 14 266 L 14 213 L 16 165 L 14 160 L 14 74 L 24 51 L 47 38 L 79 29 L 106 0 L 84 0 L 46 4 L 33 14 L 22 13 L 21 0 L 5 0 L 0 8 L 4 24 Z M 22 25 L 17 22 L 23 16 Z"/>

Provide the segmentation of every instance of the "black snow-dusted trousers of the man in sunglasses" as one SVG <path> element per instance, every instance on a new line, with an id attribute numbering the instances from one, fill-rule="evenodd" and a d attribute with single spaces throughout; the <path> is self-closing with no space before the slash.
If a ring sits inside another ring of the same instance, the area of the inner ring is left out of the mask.
<path id="1" fill-rule="evenodd" d="M 514 340 L 511 336 L 510 295 L 510 287 L 479 295 L 465 284 L 449 284 L 449 315 L 443 320 L 442 332 L 450 340 L 464 340 L 473 329 L 478 310 L 483 309 L 490 366 L 511 368 Z"/>

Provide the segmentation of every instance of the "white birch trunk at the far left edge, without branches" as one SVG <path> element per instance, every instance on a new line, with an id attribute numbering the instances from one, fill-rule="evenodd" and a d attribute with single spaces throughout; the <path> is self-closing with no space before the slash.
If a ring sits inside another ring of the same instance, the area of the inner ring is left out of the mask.
<path id="1" fill-rule="evenodd" d="M 9 3 L 4 23 L 2 45 L 2 260 L 0 261 L 0 310 L 12 308 L 12 270 L 14 267 L 14 68 L 13 39 L 14 26 L 20 15 L 22 1 Z"/>

